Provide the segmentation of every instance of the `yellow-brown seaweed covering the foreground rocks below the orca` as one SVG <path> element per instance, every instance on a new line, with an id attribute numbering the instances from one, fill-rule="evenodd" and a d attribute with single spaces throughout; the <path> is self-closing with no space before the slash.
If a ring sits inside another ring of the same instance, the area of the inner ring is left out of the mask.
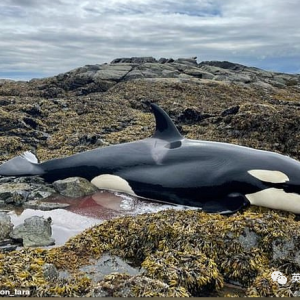
<path id="1" fill-rule="evenodd" d="M 299 227 L 293 214 L 254 207 L 229 217 L 194 210 L 122 217 L 87 229 L 62 247 L 0 254 L 0 284 L 39 282 L 33 294 L 39 296 L 204 296 L 223 292 L 224 280 L 249 296 L 291 296 L 297 292 L 292 274 L 300 273 L 300 267 L 290 252 L 284 264 L 273 259 L 272 243 L 293 239 L 297 252 Z M 285 248 L 290 250 L 291 244 Z M 106 254 L 145 271 L 111 273 L 95 286 L 88 278 L 91 262 Z M 46 263 L 69 275 L 47 280 L 42 271 Z M 24 264 L 29 268 L 25 273 Z M 81 266 L 87 265 L 85 273 Z M 286 275 L 285 285 L 274 282 L 274 271 Z"/>

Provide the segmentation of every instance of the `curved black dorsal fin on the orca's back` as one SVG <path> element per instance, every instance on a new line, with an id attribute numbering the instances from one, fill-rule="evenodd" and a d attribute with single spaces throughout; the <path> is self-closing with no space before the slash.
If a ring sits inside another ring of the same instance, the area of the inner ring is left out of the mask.
<path id="1" fill-rule="evenodd" d="M 152 103 L 151 108 L 156 120 L 156 130 L 152 137 L 166 141 L 182 140 L 183 136 L 180 134 L 169 115 L 156 104 Z"/>

